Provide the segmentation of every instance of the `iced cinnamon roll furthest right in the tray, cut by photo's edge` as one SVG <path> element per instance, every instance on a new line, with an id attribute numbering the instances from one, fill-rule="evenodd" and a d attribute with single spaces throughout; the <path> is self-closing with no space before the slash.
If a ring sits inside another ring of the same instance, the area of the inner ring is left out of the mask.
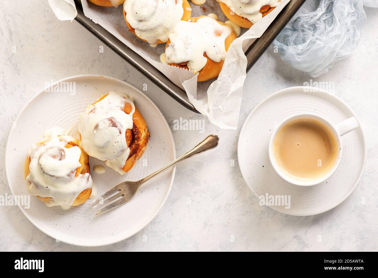
<path id="1" fill-rule="evenodd" d="M 225 16 L 243 28 L 251 28 L 257 20 L 269 14 L 281 0 L 218 0 Z"/>

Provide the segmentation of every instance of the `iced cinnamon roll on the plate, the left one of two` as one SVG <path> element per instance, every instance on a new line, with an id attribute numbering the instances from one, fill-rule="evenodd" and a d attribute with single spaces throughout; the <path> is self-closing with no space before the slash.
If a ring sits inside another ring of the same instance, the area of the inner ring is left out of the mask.
<path id="1" fill-rule="evenodd" d="M 70 208 L 95 195 L 88 155 L 79 141 L 54 127 L 34 144 L 25 160 L 26 188 L 48 207 Z"/>

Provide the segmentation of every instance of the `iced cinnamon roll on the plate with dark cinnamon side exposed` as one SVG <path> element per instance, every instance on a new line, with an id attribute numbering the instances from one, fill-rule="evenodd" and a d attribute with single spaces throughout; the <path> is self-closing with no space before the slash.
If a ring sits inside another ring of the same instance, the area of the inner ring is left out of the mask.
<path id="1" fill-rule="evenodd" d="M 150 137 L 133 99 L 118 92 L 109 92 L 89 105 L 78 129 L 83 149 L 120 174 L 134 166 Z"/>

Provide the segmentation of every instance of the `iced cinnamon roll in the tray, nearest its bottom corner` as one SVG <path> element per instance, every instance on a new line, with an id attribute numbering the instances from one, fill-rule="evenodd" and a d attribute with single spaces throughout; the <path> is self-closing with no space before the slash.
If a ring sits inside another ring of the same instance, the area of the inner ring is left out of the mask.
<path id="1" fill-rule="evenodd" d="M 198 72 L 197 81 L 215 78 L 235 32 L 229 25 L 208 16 L 181 21 L 169 35 L 162 62 Z"/>

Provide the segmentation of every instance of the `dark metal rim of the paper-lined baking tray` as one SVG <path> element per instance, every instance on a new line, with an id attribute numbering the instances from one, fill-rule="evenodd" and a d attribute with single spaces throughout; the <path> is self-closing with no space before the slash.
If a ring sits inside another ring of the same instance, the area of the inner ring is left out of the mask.
<path id="1" fill-rule="evenodd" d="M 274 19 L 264 34 L 256 39 L 247 49 L 245 55 L 247 57 L 247 71 L 257 62 L 260 56 L 265 52 L 268 46 L 273 42 L 274 38 L 279 34 L 283 27 L 290 21 L 296 11 L 302 6 L 306 0 L 291 0 L 280 14 Z M 83 7 L 80 0 L 74 0 L 77 9 L 75 20 L 84 26 L 88 31 L 94 34 L 98 39 L 110 47 L 115 53 L 121 56 L 134 68 L 140 71 L 144 76 L 150 79 L 160 89 L 174 98 L 178 103 L 193 112 L 199 113 L 197 109 L 190 103 L 186 92 L 170 81 L 163 73 L 153 67 L 149 62 L 136 54 L 127 45 L 122 43 L 115 36 L 110 34 L 101 25 L 94 23 L 88 17 L 84 16 Z"/>

